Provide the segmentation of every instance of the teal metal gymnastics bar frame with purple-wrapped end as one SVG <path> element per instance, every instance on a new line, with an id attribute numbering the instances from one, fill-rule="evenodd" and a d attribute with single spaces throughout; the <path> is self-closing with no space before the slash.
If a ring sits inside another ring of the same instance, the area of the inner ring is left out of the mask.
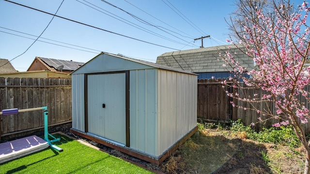
<path id="1" fill-rule="evenodd" d="M 52 147 L 53 149 L 62 152 L 63 149 L 53 145 L 52 143 L 60 141 L 60 138 L 55 138 L 53 135 L 48 133 L 48 122 L 47 122 L 47 116 L 48 116 L 48 111 L 47 111 L 47 106 L 44 107 L 38 107 L 38 108 L 30 108 L 30 109 L 20 109 L 18 110 L 17 108 L 14 109 L 5 109 L 0 112 L 0 115 L 6 116 L 6 115 L 13 115 L 13 114 L 18 114 L 19 112 L 27 112 L 27 111 L 36 111 L 36 110 L 44 110 L 44 140 L 47 141 L 47 143 Z M 48 136 L 52 137 L 52 140 L 48 139 Z"/>

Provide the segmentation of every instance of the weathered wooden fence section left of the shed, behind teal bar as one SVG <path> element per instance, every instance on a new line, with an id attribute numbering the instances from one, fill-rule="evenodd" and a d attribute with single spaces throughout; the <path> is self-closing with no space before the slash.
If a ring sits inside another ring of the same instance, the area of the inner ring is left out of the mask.
<path id="1" fill-rule="evenodd" d="M 0 110 L 28 109 L 47 106 L 48 125 L 72 121 L 71 79 L 3 78 L 0 77 Z M 22 136 L 24 132 L 42 129 L 42 111 L 0 116 L 1 136 Z M 26 134 L 26 133 L 24 133 Z"/>

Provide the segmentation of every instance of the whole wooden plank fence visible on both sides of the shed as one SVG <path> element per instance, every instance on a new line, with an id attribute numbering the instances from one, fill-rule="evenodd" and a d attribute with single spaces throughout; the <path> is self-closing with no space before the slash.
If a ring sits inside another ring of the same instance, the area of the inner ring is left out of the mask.
<path id="1" fill-rule="evenodd" d="M 197 117 L 204 120 L 229 121 L 242 119 L 245 125 L 257 122 L 259 115 L 255 111 L 238 109 L 232 107 L 231 97 L 226 94 L 233 88 L 224 86 L 219 82 L 223 79 L 198 80 L 198 106 Z M 307 87 L 310 91 L 310 87 Z M 3 109 L 28 109 L 47 106 L 49 126 L 69 123 L 72 120 L 72 87 L 71 79 L 43 79 L 43 78 L 3 78 L 0 77 L 0 110 Z M 263 95 L 258 89 L 246 89 L 239 94 Z M 310 104 L 300 97 L 308 108 Z M 248 107 L 248 103 L 233 101 L 239 106 Z M 269 109 L 276 112 L 274 103 L 263 103 L 257 105 L 260 110 Z M 262 116 L 263 118 L 263 116 Z M 263 126 L 270 127 L 276 119 L 270 119 L 264 124 L 257 124 L 256 129 L 261 130 Z M 310 133 L 310 123 L 303 124 L 305 131 Z M 43 111 L 22 112 L 16 115 L 0 116 L 0 140 L 1 136 L 14 137 L 23 136 L 30 131 L 44 127 Z"/>

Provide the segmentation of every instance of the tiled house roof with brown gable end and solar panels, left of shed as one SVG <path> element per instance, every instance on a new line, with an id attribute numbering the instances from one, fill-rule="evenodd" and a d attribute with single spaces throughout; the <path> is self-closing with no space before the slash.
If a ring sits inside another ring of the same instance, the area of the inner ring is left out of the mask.
<path id="1" fill-rule="evenodd" d="M 44 68 L 36 66 L 35 64 L 41 64 L 41 66 L 44 66 Z M 63 66 L 62 70 L 64 71 L 74 71 L 78 69 L 80 66 L 82 66 L 83 62 L 76 62 L 76 61 L 68 61 L 68 60 L 59 60 L 54 58 L 40 58 L 36 57 L 31 66 L 27 71 L 36 71 L 36 70 L 49 70 L 52 72 L 61 71 L 58 70 L 59 67 Z"/>

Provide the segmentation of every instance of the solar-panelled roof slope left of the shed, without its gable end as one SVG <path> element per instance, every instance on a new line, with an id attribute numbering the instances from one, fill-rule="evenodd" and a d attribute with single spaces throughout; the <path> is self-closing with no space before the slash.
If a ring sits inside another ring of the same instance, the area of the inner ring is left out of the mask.
<path id="1" fill-rule="evenodd" d="M 53 67 L 56 70 L 59 66 L 63 65 L 63 70 L 74 71 L 84 64 L 83 62 L 59 60 L 54 58 L 41 58 L 41 60 L 44 61 L 48 66 Z"/>

